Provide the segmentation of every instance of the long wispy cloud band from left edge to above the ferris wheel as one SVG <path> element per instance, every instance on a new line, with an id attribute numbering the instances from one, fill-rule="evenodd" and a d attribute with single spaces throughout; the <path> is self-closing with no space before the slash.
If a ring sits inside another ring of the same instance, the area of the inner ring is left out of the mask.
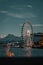
<path id="1" fill-rule="evenodd" d="M 10 13 L 8 11 L 0 11 L 0 13 L 4 13 L 7 16 L 11 16 L 11 17 L 16 17 L 16 18 L 21 18 L 21 19 L 25 19 L 25 18 L 34 18 L 37 17 L 36 15 L 34 15 L 33 13 Z"/>

